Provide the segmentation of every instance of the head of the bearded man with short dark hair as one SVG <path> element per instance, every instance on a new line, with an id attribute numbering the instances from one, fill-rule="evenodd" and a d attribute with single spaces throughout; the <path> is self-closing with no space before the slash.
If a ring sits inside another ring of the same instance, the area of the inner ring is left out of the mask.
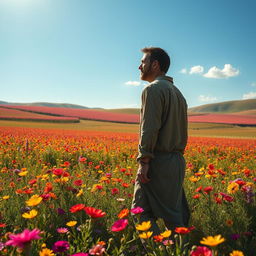
<path id="1" fill-rule="evenodd" d="M 144 53 L 139 66 L 141 80 L 152 82 L 157 76 L 165 75 L 170 66 L 169 55 L 157 47 L 145 47 L 141 51 Z"/>

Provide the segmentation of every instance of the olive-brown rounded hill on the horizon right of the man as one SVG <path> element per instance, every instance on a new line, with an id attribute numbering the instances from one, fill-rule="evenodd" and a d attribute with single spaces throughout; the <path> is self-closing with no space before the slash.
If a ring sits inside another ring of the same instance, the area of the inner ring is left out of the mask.
<path id="1" fill-rule="evenodd" d="M 256 99 L 225 101 L 189 109 L 189 113 L 235 113 L 256 110 Z"/>

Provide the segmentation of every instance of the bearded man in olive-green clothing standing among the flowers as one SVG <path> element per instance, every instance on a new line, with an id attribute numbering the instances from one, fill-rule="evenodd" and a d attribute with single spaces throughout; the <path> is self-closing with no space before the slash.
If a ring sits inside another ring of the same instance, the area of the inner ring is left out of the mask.
<path id="1" fill-rule="evenodd" d="M 166 76 L 168 54 L 161 48 L 142 49 L 142 92 L 139 155 L 132 207 L 144 209 L 140 221 L 151 221 L 154 235 L 162 218 L 169 229 L 187 226 L 189 209 L 183 190 L 187 144 L 187 103 Z"/>

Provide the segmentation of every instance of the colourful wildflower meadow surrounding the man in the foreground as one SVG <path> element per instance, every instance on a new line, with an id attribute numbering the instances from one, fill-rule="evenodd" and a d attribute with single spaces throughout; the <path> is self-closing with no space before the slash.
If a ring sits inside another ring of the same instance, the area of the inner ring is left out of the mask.
<path id="1" fill-rule="evenodd" d="M 190 226 L 153 236 L 130 209 L 136 133 L 0 134 L 0 255 L 256 255 L 255 139 L 190 137 Z"/>

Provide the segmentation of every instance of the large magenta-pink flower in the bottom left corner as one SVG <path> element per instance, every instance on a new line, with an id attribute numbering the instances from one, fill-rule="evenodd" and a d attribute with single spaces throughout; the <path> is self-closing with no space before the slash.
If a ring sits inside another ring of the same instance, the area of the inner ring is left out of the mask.
<path id="1" fill-rule="evenodd" d="M 24 246 L 30 243 L 32 240 L 40 239 L 40 232 L 41 231 L 39 229 L 33 229 L 32 231 L 30 231 L 29 229 L 25 229 L 20 234 L 9 235 L 10 240 L 8 240 L 5 244 L 12 245 L 13 247 L 24 248 Z"/>

